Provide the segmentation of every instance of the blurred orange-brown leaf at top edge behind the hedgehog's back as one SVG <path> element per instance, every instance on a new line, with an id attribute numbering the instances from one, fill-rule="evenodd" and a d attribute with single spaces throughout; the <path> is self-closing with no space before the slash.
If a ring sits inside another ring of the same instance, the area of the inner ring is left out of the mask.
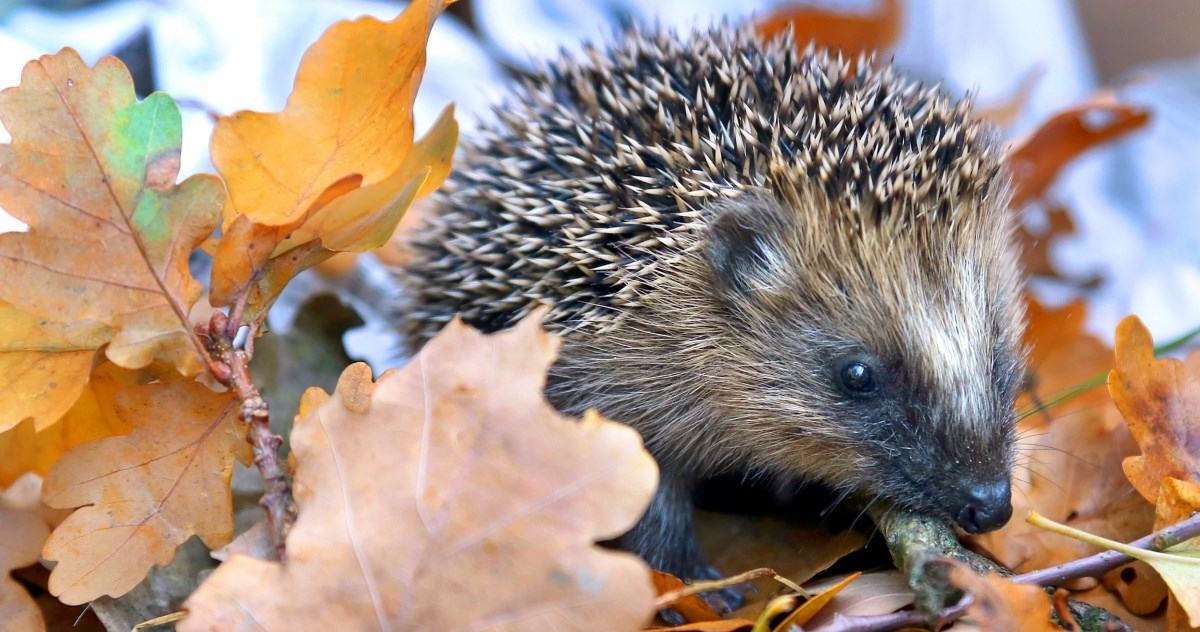
<path id="1" fill-rule="evenodd" d="M 887 50 L 900 37 L 900 0 L 881 0 L 876 5 L 878 8 L 871 13 L 851 13 L 788 4 L 757 20 L 755 26 L 768 40 L 792 29 L 796 46 L 802 50 L 815 42 L 853 60 Z"/>

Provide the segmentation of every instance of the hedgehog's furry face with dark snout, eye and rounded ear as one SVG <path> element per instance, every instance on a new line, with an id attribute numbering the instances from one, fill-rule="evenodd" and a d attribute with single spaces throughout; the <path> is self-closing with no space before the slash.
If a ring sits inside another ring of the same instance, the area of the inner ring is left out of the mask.
<path id="1" fill-rule="evenodd" d="M 833 224 L 845 213 L 822 204 L 749 195 L 706 242 L 722 347 L 749 349 L 731 374 L 758 374 L 726 378 L 745 440 L 866 500 L 1002 526 L 1022 361 L 1007 223 L 983 209 L 898 233 Z"/>

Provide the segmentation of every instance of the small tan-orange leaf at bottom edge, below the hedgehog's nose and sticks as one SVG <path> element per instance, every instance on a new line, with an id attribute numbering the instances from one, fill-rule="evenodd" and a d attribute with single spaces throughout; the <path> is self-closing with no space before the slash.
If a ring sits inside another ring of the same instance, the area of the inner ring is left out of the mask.
<path id="1" fill-rule="evenodd" d="M 1054 603 L 1042 586 L 1014 584 L 998 574 L 977 574 L 953 562 L 950 583 L 972 597 L 966 619 L 988 632 L 1061 632 L 1050 613 Z"/>

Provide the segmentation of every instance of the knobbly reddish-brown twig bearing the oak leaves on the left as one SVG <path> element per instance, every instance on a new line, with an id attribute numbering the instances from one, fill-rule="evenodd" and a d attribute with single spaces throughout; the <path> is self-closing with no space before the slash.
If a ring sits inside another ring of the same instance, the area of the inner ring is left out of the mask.
<path id="1" fill-rule="evenodd" d="M 220 369 L 212 372 L 214 377 L 232 389 L 241 402 L 238 419 L 246 425 L 246 440 L 253 450 L 254 465 L 258 467 L 265 488 L 258 504 L 266 512 L 266 531 L 270 534 L 275 558 L 282 562 L 287 561 L 287 534 L 296 519 L 292 483 L 288 481 L 287 470 L 280 463 L 280 446 L 283 445 L 283 439 L 271 432 L 266 399 L 259 395 L 250 377 L 246 351 L 234 349 L 229 329 L 229 318 L 222 312 L 216 312 L 208 324 L 208 330 L 202 333 L 209 341 L 209 354 L 220 366 Z"/>

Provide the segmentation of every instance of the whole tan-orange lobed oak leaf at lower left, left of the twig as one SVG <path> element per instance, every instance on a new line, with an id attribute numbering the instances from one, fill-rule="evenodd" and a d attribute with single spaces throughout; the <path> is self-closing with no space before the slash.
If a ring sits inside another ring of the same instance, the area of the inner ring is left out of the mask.
<path id="1" fill-rule="evenodd" d="M 67 452 L 42 489 L 52 507 L 79 507 L 42 553 L 64 603 L 124 595 L 192 535 L 214 549 L 233 537 L 233 461 L 250 461 L 236 398 L 170 381 L 122 391 L 116 410 L 134 431 Z"/>

